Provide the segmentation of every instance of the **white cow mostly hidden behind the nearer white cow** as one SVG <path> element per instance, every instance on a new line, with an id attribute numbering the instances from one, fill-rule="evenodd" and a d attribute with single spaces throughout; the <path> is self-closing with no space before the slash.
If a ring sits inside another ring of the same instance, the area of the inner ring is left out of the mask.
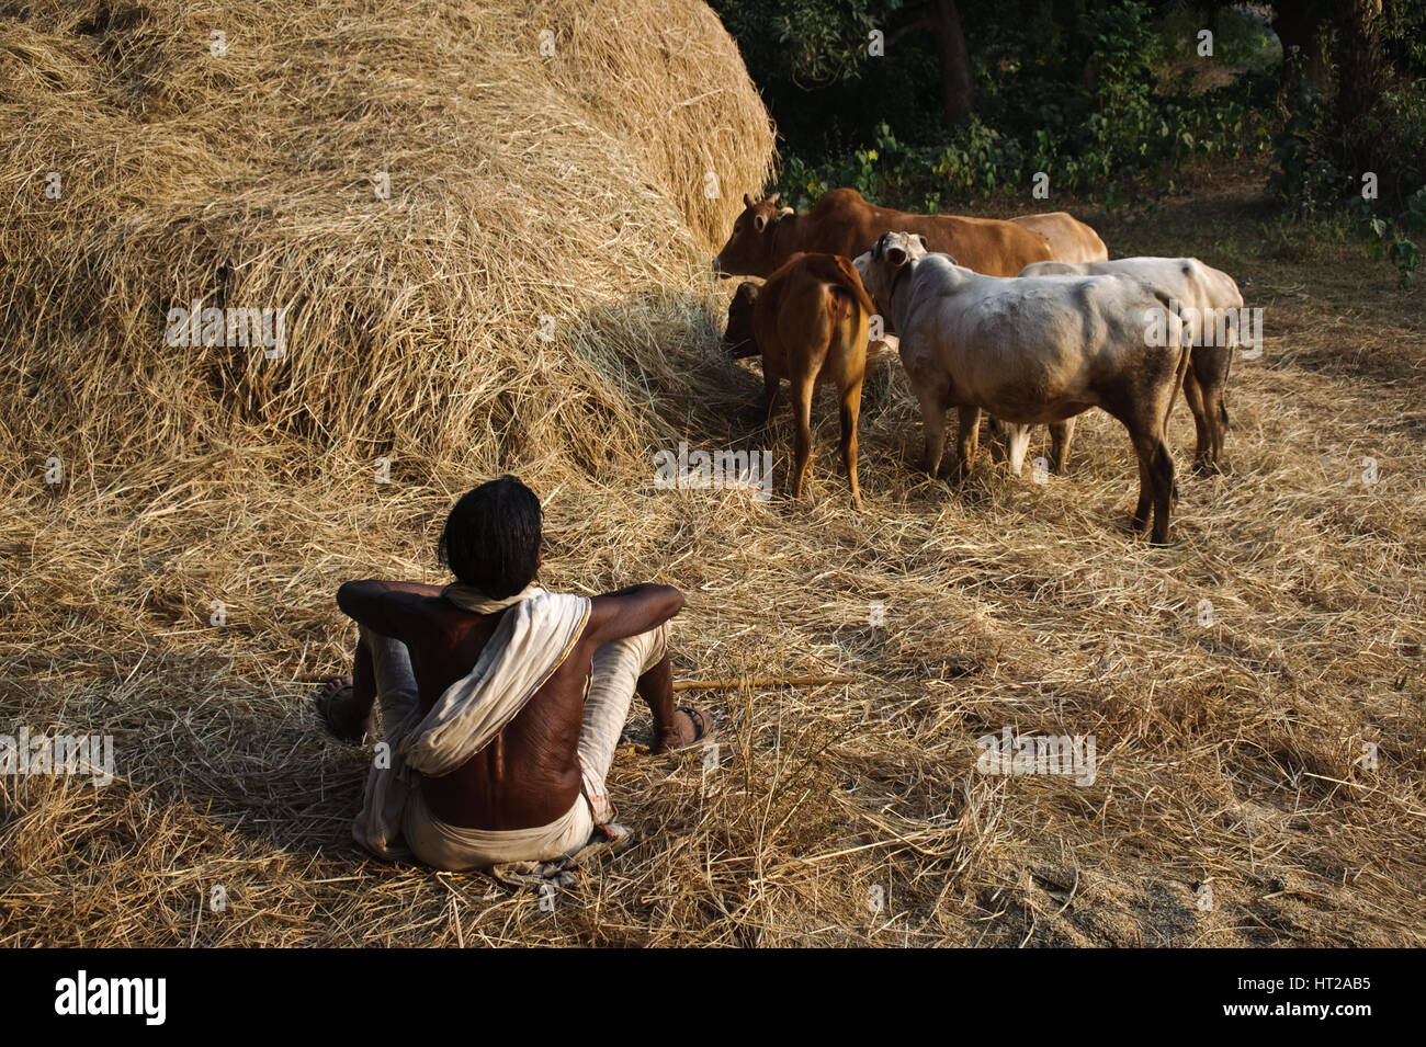
<path id="1" fill-rule="evenodd" d="M 1232 350 L 1238 345 L 1239 315 L 1243 296 L 1233 278 L 1221 269 L 1204 265 L 1196 258 L 1117 258 L 1112 262 L 1035 262 L 1021 269 L 1021 276 L 1102 276 L 1125 274 L 1135 276 L 1156 291 L 1166 293 L 1185 309 L 1184 321 L 1191 329 L 1191 366 L 1184 376 L 1184 399 L 1194 412 L 1198 446 L 1194 464 L 1199 472 L 1216 472 L 1222 466 L 1224 437 L 1228 434 L 1228 406 L 1224 389 Z M 1186 312 L 1195 311 L 1194 313 Z M 1195 325 L 1194 318 L 1202 323 Z M 1231 318 L 1231 319 L 1229 319 Z M 1064 472 L 1074 437 L 1074 419 L 1050 426 L 1051 462 L 1055 472 Z M 1008 443 L 1028 446 L 1030 430 L 1011 427 Z M 1024 453 L 1024 452 L 1021 452 Z M 1014 459 L 1014 454 L 1011 454 Z M 1012 460 L 1014 466 L 1014 460 Z M 1018 467 L 1015 469 L 1018 473 Z"/>

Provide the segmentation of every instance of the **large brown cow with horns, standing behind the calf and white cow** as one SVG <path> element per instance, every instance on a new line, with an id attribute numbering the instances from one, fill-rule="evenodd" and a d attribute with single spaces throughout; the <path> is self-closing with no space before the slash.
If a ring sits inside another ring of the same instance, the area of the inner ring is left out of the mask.
<path id="1" fill-rule="evenodd" d="M 961 265 L 988 276 L 1014 276 L 1032 262 L 1055 258 L 1044 236 L 997 218 L 891 211 L 873 207 L 856 189 L 833 189 L 800 215 L 779 208 L 779 197 L 754 202 L 743 194 L 744 211 L 713 259 L 714 274 L 767 276 L 799 251 L 856 258 L 893 231 L 918 232 L 928 251 L 954 255 Z"/>

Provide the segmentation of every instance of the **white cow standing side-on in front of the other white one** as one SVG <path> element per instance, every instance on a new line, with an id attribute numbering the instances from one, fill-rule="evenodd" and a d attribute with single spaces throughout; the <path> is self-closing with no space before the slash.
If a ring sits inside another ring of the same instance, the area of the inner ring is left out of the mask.
<path id="1" fill-rule="evenodd" d="M 886 234 L 856 266 L 900 332 L 931 476 L 950 407 L 960 413 L 961 476 L 975 460 L 983 410 L 1030 426 L 1102 407 L 1129 430 L 1139 459 L 1134 527 L 1148 527 L 1152 506 L 1152 538 L 1168 540 L 1174 460 L 1164 430 L 1188 346 L 1166 295 L 1122 275 L 983 276 L 927 254 L 907 232 Z"/>

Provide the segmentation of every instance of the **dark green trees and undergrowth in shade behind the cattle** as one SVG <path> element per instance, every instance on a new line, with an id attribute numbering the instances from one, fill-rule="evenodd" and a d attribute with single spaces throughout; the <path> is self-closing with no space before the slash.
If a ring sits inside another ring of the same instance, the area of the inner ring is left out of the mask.
<path id="1" fill-rule="evenodd" d="M 925 3 L 712 3 L 777 120 L 784 141 L 779 188 L 791 207 L 806 208 L 838 185 L 921 211 L 997 195 L 1028 205 L 1044 174 L 1050 199 L 1152 208 L 1182 170 L 1271 148 L 1271 189 L 1289 215 L 1340 215 L 1343 232 L 1365 236 L 1403 278 L 1420 268 L 1423 205 L 1407 207 L 1426 167 L 1426 4 L 1419 0 L 1385 0 L 1379 43 L 1395 75 L 1382 104 L 1350 128 L 1333 123 L 1330 61 L 1325 85 L 1285 67 L 1259 9 L 1168 0 L 961 3 L 974 117 L 951 125 L 941 113 L 941 64 Z M 1343 17 L 1330 11 L 1329 20 Z M 1198 54 L 1202 28 L 1214 30 L 1212 56 Z M 867 54 L 873 30 L 884 34 L 886 57 Z M 1330 53 L 1330 33 L 1319 40 Z M 1383 158 L 1373 161 L 1382 199 L 1366 219 L 1343 209 L 1360 198 L 1363 172 L 1353 160 L 1360 155 Z"/>

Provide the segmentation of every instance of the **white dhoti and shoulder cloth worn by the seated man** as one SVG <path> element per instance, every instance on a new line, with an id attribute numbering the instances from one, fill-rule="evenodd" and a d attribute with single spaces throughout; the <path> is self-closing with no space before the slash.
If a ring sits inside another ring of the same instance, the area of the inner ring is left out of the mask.
<path id="1" fill-rule="evenodd" d="M 589 601 L 533 585 L 506 601 L 473 598 L 469 590 L 451 598 L 482 613 L 519 605 L 506 613 L 471 674 L 452 684 L 424 718 L 405 644 L 361 631 L 371 651 L 389 765 L 376 761 L 368 773 L 352 836 L 381 858 L 415 858 L 449 870 L 573 856 L 590 842 L 596 826 L 613 818 L 605 775 L 619 748 L 639 677 L 667 651 L 669 625 L 595 651 L 579 732 L 582 793 L 573 806 L 549 825 L 471 829 L 449 825 L 429 809 L 421 778 L 456 769 L 515 718 L 573 648 Z"/>

